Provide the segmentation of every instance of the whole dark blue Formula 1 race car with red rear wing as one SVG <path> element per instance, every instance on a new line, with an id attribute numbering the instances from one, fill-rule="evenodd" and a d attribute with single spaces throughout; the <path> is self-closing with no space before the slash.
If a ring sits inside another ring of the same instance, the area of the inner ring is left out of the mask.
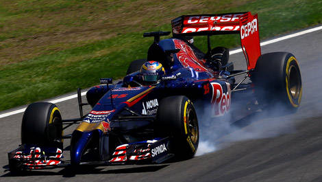
<path id="1" fill-rule="evenodd" d="M 88 103 L 82 103 L 78 89 L 79 118 L 62 120 L 55 104 L 30 104 L 23 115 L 22 144 L 8 153 L 10 170 L 189 159 L 199 143 L 196 109 L 210 108 L 208 117 L 216 120 L 240 98 L 263 108 L 276 102 L 293 111 L 299 106 L 299 64 L 287 52 L 261 54 L 257 14 L 185 15 L 171 23 L 172 38 L 160 40 L 170 32 L 143 35 L 154 37 L 147 59 L 131 62 L 122 81 L 101 78 L 87 91 Z M 240 34 L 247 69 L 234 70 L 227 48 L 212 49 L 210 36 L 216 34 Z M 208 37 L 206 54 L 193 45 L 193 36 Z M 163 73 L 141 74 L 149 69 Z M 236 81 L 236 76 L 244 77 Z M 92 111 L 83 115 L 86 104 Z M 62 135 L 73 124 L 79 124 L 73 133 Z M 62 160 L 67 138 L 70 161 Z"/>

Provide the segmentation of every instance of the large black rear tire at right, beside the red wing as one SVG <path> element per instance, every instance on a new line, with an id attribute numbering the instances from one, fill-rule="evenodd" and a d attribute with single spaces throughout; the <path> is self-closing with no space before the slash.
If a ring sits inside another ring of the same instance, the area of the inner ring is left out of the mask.
<path id="1" fill-rule="evenodd" d="M 262 54 L 256 62 L 251 80 L 262 104 L 280 103 L 291 111 L 299 107 L 302 95 L 301 72 L 293 54 Z"/>

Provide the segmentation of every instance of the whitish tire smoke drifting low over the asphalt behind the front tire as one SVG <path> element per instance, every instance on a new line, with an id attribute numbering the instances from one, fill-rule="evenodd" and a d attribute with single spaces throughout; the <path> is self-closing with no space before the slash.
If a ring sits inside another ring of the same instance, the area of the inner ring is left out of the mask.
<path id="1" fill-rule="evenodd" d="M 199 147 L 196 155 L 214 152 L 235 141 L 277 137 L 296 131 L 295 117 L 280 105 L 273 109 L 247 111 L 238 106 L 222 117 L 210 118 L 211 109 L 197 111 L 199 120 Z M 241 110 L 240 110 L 241 108 Z"/>

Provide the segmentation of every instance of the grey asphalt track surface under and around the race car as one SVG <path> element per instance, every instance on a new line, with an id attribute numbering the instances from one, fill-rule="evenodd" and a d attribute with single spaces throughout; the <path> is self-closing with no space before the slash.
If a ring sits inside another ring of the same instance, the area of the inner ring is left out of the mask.
<path id="1" fill-rule="evenodd" d="M 58 168 L 14 176 L 6 170 L 7 152 L 20 143 L 19 113 L 0 119 L 0 181 L 322 181 L 321 43 L 319 30 L 262 47 L 263 54 L 292 52 L 299 60 L 301 106 L 293 114 L 258 112 L 237 121 L 244 123 L 238 130 L 212 141 L 214 152 L 159 165 L 100 166 L 78 172 Z M 235 67 L 245 64 L 240 53 L 230 60 L 236 60 Z M 57 105 L 64 118 L 79 115 L 76 99 Z"/>

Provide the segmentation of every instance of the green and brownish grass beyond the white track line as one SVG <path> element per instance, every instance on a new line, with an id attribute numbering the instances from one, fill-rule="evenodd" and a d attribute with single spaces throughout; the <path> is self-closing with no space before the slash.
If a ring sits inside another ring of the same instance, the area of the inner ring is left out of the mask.
<path id="1" fill-rule="evenodd" d="M 321 0 L 189 2 L 183 10 L 173 1 L 21 0 L 0 7 L 0 111 L 91 87 L 99 78 L 121 78 L 129 62 L 146 57 L 153 40 L 143 38 L 143 32 L 171 30 L 170 20 L 181 14 L 258 13 L 262 40 L 322 21 Z M 42 24 L 25 17 L 38 17 Z M 98 30 L 82 32 L 90 26 Z M 75 27 L 80 33 L 73 32 Z M 56 32 L 63 36 L 53 36 L 53 43 L 41 39 Z M 35 41 L 34 36 L 41 37 L 40 44 L 21 46 Z M 225 35 L 212 36 L 212 42 L 212 47 L 235 47 L 240 40 L 238 35 Z M 206 50 L 206 38 L 195 38 L 195 44 Z M 22 53 L 10 52 L 17 47 Z"/>

